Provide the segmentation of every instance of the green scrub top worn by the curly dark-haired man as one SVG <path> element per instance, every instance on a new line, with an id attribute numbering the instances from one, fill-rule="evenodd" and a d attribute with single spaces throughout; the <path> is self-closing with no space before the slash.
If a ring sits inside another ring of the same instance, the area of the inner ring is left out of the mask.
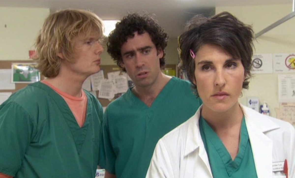
<path id="1" fill-rule="evenodd" d="M 173 77 L 151 107 L 129 89 L 104 115 L 106 170 L 120 178 L 145 177 L 158 140 L 201 105 L 191 83 Z"/>

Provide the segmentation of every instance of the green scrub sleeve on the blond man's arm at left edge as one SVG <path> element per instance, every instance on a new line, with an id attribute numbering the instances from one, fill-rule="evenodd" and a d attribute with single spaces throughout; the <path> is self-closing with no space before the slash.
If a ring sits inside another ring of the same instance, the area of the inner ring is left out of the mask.
<path id="1" fill-rule="evenodd" d="M 0 172 L 15 176 L 33 135 L 32 118 L 14 102 L 0 106 Z"/>

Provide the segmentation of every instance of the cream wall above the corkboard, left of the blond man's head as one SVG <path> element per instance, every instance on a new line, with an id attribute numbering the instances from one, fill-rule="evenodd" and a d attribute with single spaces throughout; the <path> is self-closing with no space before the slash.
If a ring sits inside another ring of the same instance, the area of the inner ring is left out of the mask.
<path id="1" fill-rule="evenodd" d="M 0 60 L 27 60 L 49 12 L 43 8 L 0 7 Z"/>

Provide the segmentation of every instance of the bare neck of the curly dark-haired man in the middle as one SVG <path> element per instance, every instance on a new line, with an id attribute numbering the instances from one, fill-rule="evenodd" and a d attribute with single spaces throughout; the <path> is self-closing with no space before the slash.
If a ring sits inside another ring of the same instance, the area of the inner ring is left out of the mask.
<path id="1" fill-rule="evenodd" d="M 142 102 L 144 102 L 148 107 L 150 107 L 159 93 L 163 90 L 165 85 L 171 79 L 171 76 L 167 76 L 161 73 L 157 82 L 149 87 L 133 87 L 132 92 L 137 96 Z"/>

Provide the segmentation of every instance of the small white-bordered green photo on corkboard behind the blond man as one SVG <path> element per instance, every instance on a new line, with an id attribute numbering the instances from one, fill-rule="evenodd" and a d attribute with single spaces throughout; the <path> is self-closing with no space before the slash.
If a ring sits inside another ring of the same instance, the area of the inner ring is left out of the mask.
<path id="1" fill-rule="evenodd" d="M 40 81 L 36 63 L 12 63 L 12 83 L 34 83 Z"/>

